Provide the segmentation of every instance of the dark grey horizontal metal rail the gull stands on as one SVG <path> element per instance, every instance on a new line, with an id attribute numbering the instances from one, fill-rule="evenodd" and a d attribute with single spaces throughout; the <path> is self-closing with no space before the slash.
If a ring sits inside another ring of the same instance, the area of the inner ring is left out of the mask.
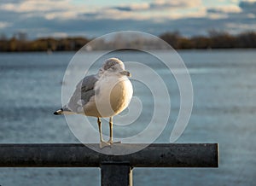
<path id="1" fill-rule="evenodd" d="M 139 145 L 114 144 L 114 148 Z M 218 143 L 153 143 L 126 155 L 101 154 L 86 146 L 79 143 L 0 144 L 0 167 L 100 167 L 106 163 L 127 163 L 131 167 L 218 167 Z"/>

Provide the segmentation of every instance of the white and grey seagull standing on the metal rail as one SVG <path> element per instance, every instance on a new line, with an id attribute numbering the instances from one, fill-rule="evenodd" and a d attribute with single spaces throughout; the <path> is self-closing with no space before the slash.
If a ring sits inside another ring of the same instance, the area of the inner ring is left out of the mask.
<path id="1" fill-rule="evenodd" d="M 55 111 L 60 114 L 83 114 L 97 118 L 100 148 L 113 144 L 113 116 L 128 107 L 133 94 L 128 77 L 131 73 L 118 58 L 105 61 L 97 74 L 84 77 L 76 86 L 69 102 Z M 109 140 L 102 138 L 101 118 L 109 118 Z"/>

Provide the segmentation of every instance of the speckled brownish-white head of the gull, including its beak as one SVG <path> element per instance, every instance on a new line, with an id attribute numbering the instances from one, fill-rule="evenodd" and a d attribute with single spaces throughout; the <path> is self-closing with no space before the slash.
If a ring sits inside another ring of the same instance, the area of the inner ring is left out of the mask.
<path id="1" fill-rule="evenodd" d="M 107 61 L 105 61 L 102 67 L 100 68 L 98 75 L 131 77 L 131 73 L 125 70 L 124 63 L 120 61 L 118 58 L 109 58 Z"/>

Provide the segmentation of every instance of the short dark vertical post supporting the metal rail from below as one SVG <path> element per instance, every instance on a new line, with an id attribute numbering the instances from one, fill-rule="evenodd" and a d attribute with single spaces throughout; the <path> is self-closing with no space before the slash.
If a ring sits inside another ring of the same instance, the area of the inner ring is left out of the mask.
<path id="1" fill-rule="evenodd" d="M 132 186 L 132 168 L 127 163 L 101 164 L 102 186 Z"/>

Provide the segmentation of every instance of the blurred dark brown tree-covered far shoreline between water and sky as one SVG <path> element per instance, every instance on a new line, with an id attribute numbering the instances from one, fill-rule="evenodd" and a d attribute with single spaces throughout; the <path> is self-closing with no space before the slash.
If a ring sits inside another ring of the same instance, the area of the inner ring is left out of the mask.
<path id="1" fill-rule="evenodd" d="M 22 35 L 22 34 L 21 34 Z M 123 36 L 125 38 L 125 35 Z M 231 35 L 227 32 L 209 32 L 208 36 L 183 37 L 179 32 L 166 32 L 159 38 L 170 44 L 173 49 L 256 49 L 256 32 L 243 32 Z M 38 38 L 27 40 L 24 37 L 0 38 L 0 52 L 59 52 L 78 51 L 92 39 L 73 38 Z M 124 39 L 113 38 L 110 41 L 102 40 L 102 44 L 89 45 L 85 50 L 107 50 L 107 49 L 161 49 L 154 40 L 150 38 L 135 38 L 128 43 Z M 135 47 L 136 46 L 136 47 Z M 165 49 L 165 48 L 164 48 Z"/>

